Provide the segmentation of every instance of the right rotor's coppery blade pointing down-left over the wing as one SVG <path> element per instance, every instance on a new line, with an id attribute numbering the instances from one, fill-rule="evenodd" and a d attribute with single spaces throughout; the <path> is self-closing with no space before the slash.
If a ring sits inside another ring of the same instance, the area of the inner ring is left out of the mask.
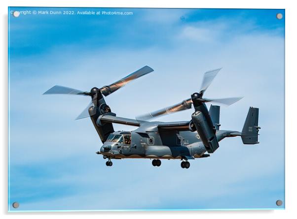
<path id="1" fill-rule="evenodd" d="M 136 119 L 137 120 L 148 120 L 148 119 L 152 119 L 152 118 L 155 118 L 158 116 L 163 116 L 166 114 L 171 114 L 171 113 L 175 113 L 178 111 L 190 109 L 191 107 L 192 107 L 192 100 L 189 98 L 189 99 L 184 100 L 181 103 L 175 104 L 170 107 L 165 107 L 163 109 L 139 116 Z"/>

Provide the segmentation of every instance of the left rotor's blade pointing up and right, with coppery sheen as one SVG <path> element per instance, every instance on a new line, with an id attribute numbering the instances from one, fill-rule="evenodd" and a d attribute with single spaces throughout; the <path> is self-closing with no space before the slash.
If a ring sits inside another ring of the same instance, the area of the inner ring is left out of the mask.
<path id="1" fill-rule="evenodd" d="M 132 74 L 129 74 L 128 76 L 114 82 L 113 84 L 111 84 L 109 86 L 104 86 L 103 88 L 100 88 L 100 91 L 103 95 L 107 96 L 107 95 L 117 91 L 121 87 L 125 86 L 130 81 L 140 78 L 141 76 L 144 76 L 152 71 L 153 71 L 153 69 L 151 67 L 149 67 L 148 65 L 146 65 L 146 66 L 142 67 L 141 69 L 133 72 Z"/>

